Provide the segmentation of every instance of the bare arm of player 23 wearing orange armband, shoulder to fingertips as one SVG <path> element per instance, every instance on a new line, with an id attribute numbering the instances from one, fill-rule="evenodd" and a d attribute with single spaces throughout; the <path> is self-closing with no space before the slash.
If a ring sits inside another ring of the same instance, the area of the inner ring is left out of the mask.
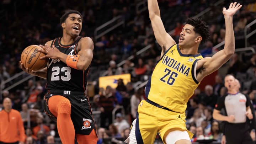
<path id="1" fill-rule="evenodd" d="M 60 52 L 59 49 L 55 48 L 54 45 L 52 48 L 50 48 L 49 44 L 46 43 L 45 46 L 40 45 L 40 47 L 42 47 L 42 49 L 38 51 L 46 54 L 44 57 L 41 57 L 40 59 L 44 59 L 44 58 L 60 59 L 62 62 L 66 63 L 66 59 L 68 58 L 69 55 Z M 79 57 L 76 57 L 78 58 L 78 60 L 75 65 L 75 69 L 86 70 L 89 67 L 92 60 L 92 56 L 93 56 L 93 53 L 92 53 L 93 49 L 94 49 L 94 45 L 91 38 L 85 37 L 79 41 L 79 44 L 78 44 L 79 52 L 77 54 L 79 55 Z M 70 58 L 73 58 L 73 57 L 70 57 Z M 74 60 L 71 60 L 71 61 L 74 61 Z"/>

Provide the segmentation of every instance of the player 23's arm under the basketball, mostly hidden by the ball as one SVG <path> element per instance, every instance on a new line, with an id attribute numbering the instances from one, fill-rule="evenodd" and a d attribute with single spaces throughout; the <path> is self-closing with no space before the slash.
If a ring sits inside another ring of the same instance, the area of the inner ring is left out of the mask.
<path id="1" fill-rule="evenodd" d="M 52 43 L 52 41 L 48 41 L 46 42 L 49 46 L 50 44 Z M 38 50 L 40 51 L 40 50 Z M 20 61 L 20 68 L 25 71 L 26 73 L 28 74 L 31 74 L 31 75 L 35 75 L 35 76 L 38 76 L 40 78 L 43 78 L 43 79 L 46 79 L 46 74 L 47 74 L 47 66 L 41 70 L 38 70 L 38 71 L 33 71 L 33 70 L 29 70 L 28 68 L 25 68 L 23 63 Z"/>

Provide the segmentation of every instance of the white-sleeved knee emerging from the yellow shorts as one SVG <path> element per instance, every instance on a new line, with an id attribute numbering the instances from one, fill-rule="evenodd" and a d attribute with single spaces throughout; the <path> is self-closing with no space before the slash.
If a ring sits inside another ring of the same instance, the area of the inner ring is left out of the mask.
<path id="1" fill-rule="evenodd" d="M 169 132 L 165 138 L 166 144 L 191 144 L 187 131 L 174 130 Z"/>

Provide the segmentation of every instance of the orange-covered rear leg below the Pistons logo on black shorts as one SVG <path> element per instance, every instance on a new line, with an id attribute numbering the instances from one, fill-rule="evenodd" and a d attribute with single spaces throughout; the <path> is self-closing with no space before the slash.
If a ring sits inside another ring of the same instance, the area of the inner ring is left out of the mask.
<path id="1" fill-rule="evenodd" d="M 78 144 L 96 144 L 97 143 L 97 135 L 95 130 L 93 129 L 89 135 L 83 134 L 75 134 L 76 140 Z"/>

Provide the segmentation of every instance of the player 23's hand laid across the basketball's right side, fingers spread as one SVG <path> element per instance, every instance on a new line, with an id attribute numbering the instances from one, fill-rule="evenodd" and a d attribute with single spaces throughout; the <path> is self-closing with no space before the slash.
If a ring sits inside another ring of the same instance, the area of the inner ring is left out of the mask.
<path id="1" fill-rule="evenodd" d="M 43 45 L 39 45 L 42 49 L 38 49 L 38 52 L 42 52 L 44 54 L 46 54 L 45 56 L 41 57 L 40 59 L 47 59 L 47 58 L 51 58 L 51 59 L 58 59 L 57 55 L 59 55 L 61 52 L 59 51 L 59 49 L 57 49 L 54 45 L 51 48 L 50 46 L 48 46 L 48 44 Z"/>

